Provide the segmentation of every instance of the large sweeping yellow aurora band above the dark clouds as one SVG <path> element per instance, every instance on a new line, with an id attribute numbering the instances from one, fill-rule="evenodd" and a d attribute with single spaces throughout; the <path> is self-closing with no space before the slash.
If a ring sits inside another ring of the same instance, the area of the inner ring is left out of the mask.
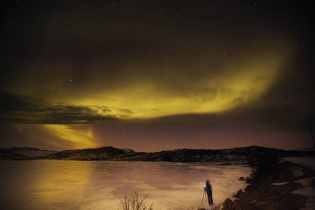
<path id="1" fill-rule="evenodd" d="M 259 99 L 279 79 L 283 64 L 282 55 L 256 55 L 246 64 L 223 64 L 223 73 L 216 76 L 207 77 L 202 73 L 193 82 L 184 77 L 180 91 L 175 91 L 180 87 L 148 76 L 141 83 L 126 83 L 111 90 L 99 89 L 94 97 L 82 97 L 71 102 L 91 108 L 108 106 L 111 110 L 108 114 L 130 119 L 223 112 Z"/>

